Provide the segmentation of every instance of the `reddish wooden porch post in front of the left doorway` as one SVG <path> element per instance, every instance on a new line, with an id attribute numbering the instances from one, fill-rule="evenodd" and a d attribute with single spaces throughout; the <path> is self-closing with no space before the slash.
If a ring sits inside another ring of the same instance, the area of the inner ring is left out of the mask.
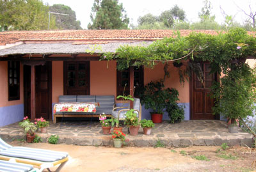
<path id="1" fill-rule="evenodd" d="M 31 65 L 31 95 L 30 95 L 31 120 L 35 120 L 36 114 L 36 98 L 35 98 L 35 65 Z"/>

